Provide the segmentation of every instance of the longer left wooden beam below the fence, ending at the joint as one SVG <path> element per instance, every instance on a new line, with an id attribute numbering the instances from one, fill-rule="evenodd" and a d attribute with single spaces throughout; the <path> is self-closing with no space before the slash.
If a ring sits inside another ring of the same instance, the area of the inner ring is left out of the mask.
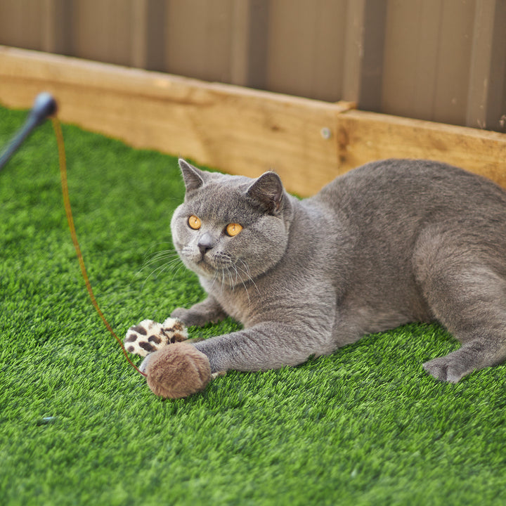
<path id="1" fill-rule="evenodd" d="M 64 122 L 231 174 L 275 169 L 304 195 L 335 174 L 335 143 L 321 131 L 332 137 L 336 113 L 349 108 L 0 47 L 1 102 L 27 108 L 41 90 L 57 98 Z"/>

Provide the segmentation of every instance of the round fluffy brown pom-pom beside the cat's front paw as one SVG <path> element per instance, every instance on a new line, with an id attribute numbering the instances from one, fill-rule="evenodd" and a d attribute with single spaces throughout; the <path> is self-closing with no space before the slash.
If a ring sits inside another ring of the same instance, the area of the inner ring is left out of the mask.
<path id="1" fill-rule="evenodd" d="M 155 351 L 145 373 L 153 394 L 181 398 L 205 389 L 211 380 L 211 365 L 195 346 L 176 342 Z"/>

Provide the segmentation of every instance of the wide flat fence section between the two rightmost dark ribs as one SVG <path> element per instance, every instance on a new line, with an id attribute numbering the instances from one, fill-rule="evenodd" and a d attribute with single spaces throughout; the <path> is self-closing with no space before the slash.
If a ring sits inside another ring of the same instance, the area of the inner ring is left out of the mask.
<path id="1" fill-rule="evenodd" d="M 382 112 L 465 124 L 473 20 L 474 2 L 388 2 Z"/>

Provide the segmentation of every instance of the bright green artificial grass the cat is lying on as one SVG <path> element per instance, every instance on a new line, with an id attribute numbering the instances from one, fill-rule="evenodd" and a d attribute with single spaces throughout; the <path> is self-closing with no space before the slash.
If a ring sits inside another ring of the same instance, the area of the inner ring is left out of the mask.
<path id="1" fill-rule="evenodd" d="M 24 118 L 0 108 L 0 145 Z M 119 335 L 202 299 L 170 254 L 152 256 L 171 248 L 176 159 L 63 132 L 84 260 Z M 458 347 L 438 325 L 367 336 L 298 368 L 228 372 L 202 394 L 162 401 L 89 302 L 51 124 L 0 172 L 0 209 L 2 505 L 506 500 L 506 365 L 437 382 L 422 362 Z"/>

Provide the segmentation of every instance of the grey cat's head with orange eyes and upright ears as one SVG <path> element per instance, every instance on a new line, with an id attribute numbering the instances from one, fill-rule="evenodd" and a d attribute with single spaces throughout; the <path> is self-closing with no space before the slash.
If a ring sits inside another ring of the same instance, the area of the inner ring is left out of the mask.
<path id="1" fill-rule="evenodd" d="M 287 248 L 290 197 L 274 172 L 258 179 L 202 171 L 179 160 L 186 196 L 171 220 L 172 240 L 192 271 L 234 286 L 278 264 Z"/>

